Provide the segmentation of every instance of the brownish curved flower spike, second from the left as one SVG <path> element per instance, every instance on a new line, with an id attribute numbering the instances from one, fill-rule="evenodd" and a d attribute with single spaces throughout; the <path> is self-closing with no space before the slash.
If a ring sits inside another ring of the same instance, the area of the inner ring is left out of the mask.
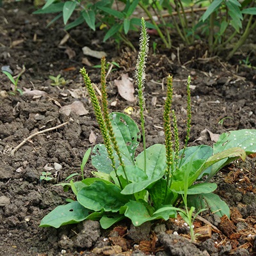
<path id="1" fill-rule="evenodd" d="M 110 119 L 109 119 L 108 94 L 107 94 L 107 88 L 106 88 L 106 59 L 105 59 L 105 57 L 102 57 L 102 59 L 101 59 L 101 73 L 100 74 L 101 74 L 100 83 L 101 83 L 101 93 L 102 93 L 102 111 L 103 111 L 104 121 L 105 121 L 106 127 L 108 129 L 109 137 L 112 142 L 113 148 L 118 156 L 120 166 L 122 166 L 122 169 L 124 171 L 125 179 L 126 179 L 127 183 L 129 183 L 129 179 L 125 172 L 125 165 L 124 165 L 124 161 L 121 156 L 120 148 L 117 145 L 113 127 L 112 127 Z"/>

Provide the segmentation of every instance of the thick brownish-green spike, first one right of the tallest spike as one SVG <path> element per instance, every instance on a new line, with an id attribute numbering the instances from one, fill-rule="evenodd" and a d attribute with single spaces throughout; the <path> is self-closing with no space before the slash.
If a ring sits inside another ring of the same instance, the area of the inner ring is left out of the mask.
<path id="1" fill-rule="evenodd" d="M 172 88 L 172 76 L 167 77 L 167 95 L 164 104 L 164 115 L 163 115 L 163 122 L 164 122 L 164 134 L 165 134 L 165 147 L 166 147 L 166 177 L 167 177 L 167 186 L 170 187 L 171 176 L 173 171 L 173 154 L 172 154 L 172 128 L 171 128 L 171 108 L 172 108 L 172 95 L 173 95 L 173 88 Z"/>

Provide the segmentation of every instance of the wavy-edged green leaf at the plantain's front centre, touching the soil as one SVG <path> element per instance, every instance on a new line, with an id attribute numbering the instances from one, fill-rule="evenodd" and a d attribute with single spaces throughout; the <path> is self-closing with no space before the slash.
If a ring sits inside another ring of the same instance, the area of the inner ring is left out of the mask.
<path id="1" fill-rule="evenodd" d="M 124 215 L 131 219 L 132 224 L 136 227 L 147 221 L 158 219 L 168 220 L 170 217 L 175 218 L 175 216 L 177 216 L 175 207 L 164 207 L 163 209 L 159 209 L 154 212 L 152 216 L 150 216 L 147 207 L 145 207 L 141 202 L 130 201 L 125 205 L 125 207 L 127 208 Z"/>

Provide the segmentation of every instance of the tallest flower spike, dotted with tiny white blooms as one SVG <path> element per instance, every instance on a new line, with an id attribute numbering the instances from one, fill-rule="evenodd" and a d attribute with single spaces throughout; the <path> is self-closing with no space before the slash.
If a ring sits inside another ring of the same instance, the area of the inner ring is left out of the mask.
<path id="1" fill-rule="evenodd" d="M 140 52 L 138 55 L 138 60 L 136 63 L 136 86 L 138 91 L 138 101 L 140 106 L 140 120 L 141 120 L 141 130 L 143 134 L 143 149 L 144 149 L 144 166 L 146 171 L 146 140 L 145 140 L 145 120 L 144 120 L 144 108 L 145 99 L 143 96 L 144 83 L 145 83 L 145 68 L 148 55 L 148 39 L 146 22 L 141 18 L 141 35 L 140 35 Z"/>

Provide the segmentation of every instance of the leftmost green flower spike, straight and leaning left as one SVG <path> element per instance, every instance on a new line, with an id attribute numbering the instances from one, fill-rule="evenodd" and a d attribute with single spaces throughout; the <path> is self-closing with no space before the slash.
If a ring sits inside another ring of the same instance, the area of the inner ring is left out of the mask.
<path id="1" fill-rule="evenodd" d="M 110 139 L 109 139 L 108 129 L 107 129 L 106 124 L 104 122 L 104 118 L 103 118 L 103 115 L 102 115 L 102 112 L 101 112 L 99 100 L 97 99 L 95 90 L 92 87 L 91 79 L 88 76 L 85 68 L 81 68 L 80 73 L 83 76 L 84 84 L 85 84 L 85 86 L 88 90 L 88 93 L 90 95 L 90 98 L 92 100 L 92 105 L 93 105 L 93 108 L 94 108 L 95 116 L 96 116 L 97 122 L 98 122 L 99 127 L 100 127 L 100 132 L 101 132 L 103 140 L 104 140 L 104 145 L 106 146 L 106 149 L 107 149 L 107 152 L 108 152 L 108 157 L 111 160 L 113 169 L 115 170 L 116 178 L 118 179 L 120 188 L 122 188 L 122 184 L 121 184 L 120 179 L 117 175 L 115 159 L 114 159 L 114 156 L 113 156 L 113 148 L 111 147 L 111 142 L 110 142 Z"/>

